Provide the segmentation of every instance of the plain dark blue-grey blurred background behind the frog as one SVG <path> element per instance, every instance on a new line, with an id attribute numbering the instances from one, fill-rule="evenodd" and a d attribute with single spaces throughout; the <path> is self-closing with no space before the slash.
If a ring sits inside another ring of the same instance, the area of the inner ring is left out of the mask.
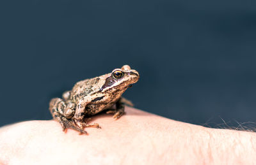
<path id="1" fill-rule="evenodd" d="M 1 1 L 0 17 L 0 126 L 49 120 L 52 97 L 124 64 L 141 75 L 124 94 L 136 108 L 256 122 L 255 1 Z"/>

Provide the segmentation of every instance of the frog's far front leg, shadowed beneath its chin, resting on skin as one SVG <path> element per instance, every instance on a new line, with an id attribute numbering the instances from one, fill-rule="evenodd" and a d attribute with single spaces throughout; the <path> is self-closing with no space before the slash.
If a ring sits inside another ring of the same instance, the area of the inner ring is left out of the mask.
<path id="1" fill-rule="evenodd" d="M 131 101 L 125 99 L 124 97 L 120 97 L 120 99 L 116 101 L 116 110 L 109 110 L 106 113 L 114 113 L 113 118 L 118 119 L 124 115 L 125 104 L 133 106 Z"/>

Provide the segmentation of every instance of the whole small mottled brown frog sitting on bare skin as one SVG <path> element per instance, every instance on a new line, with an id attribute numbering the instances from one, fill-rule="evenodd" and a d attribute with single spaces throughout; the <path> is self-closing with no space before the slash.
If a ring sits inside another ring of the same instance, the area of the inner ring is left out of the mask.
<path id="1" fill-rule="evenodd" d="M 87 134 L 86 127 L 100 128 L 97 123 L 88 124 L 93 115 L 105 110 L 113 113 L 116 120 L 124 115 L 125 105 L 133 106 L 122 94 L 139 78 L 138 71 L 124 65 L 111 73 L 79 81 L 72 90 L 63 92 L 61 98 L 52 98 L 49 111 L 52 118 L 60 122 L 63 131 L 74 129 Z"/>

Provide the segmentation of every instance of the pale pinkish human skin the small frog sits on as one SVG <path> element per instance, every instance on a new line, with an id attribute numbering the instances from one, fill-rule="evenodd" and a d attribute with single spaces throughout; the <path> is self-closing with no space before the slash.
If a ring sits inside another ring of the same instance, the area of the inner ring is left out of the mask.
<path id="1" fill-rule="evenodd" d="M 88 135 L 54 120 L 0 128 L 0 164 L 255 164 L 256 133 L 212 129 L 125 107 Z"/>

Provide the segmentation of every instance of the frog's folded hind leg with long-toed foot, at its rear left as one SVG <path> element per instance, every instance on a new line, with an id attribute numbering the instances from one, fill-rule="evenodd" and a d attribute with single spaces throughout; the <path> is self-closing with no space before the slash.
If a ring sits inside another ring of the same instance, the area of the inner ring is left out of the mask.
<path id="1" fill-rule="evenodd" d="M 79 129 L 73 120 L 70 118 L 74 115 L 74 103 L 68 102 L 67 104 L 60 98 L 51 99 L 49 110 L 51 111 L 54 120 L 60 122 L 63 131 L 68 128 L 86 134 L 86 131 Z"/>

